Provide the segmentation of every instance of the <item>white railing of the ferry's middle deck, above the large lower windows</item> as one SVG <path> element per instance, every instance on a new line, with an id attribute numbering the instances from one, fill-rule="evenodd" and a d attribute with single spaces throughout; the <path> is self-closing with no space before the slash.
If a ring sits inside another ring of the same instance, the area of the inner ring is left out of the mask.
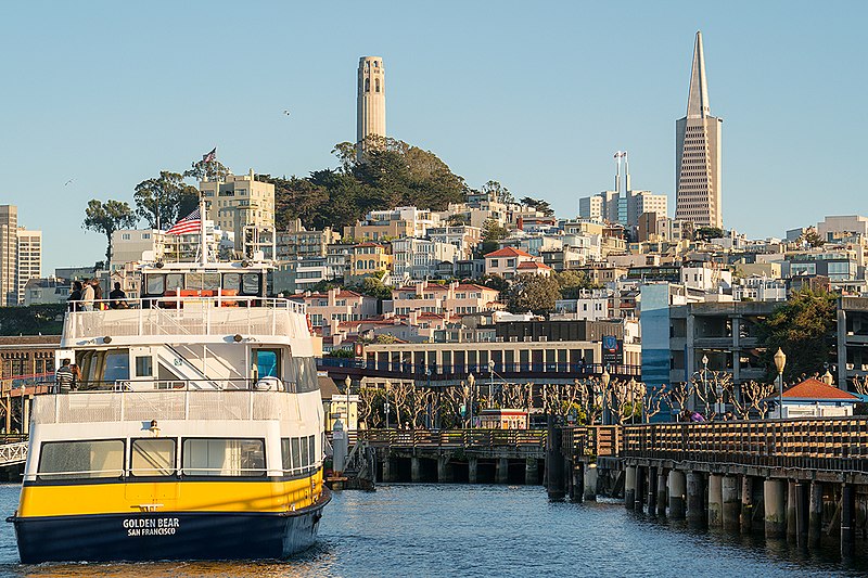
<path id="1" fill-rule="evenodd" d="M 315 391 L 316 388 L 309 389 Z M 255 389 L 90 389 L 34 398 L 37 424 L 297 421 L 298 396 Z"/>

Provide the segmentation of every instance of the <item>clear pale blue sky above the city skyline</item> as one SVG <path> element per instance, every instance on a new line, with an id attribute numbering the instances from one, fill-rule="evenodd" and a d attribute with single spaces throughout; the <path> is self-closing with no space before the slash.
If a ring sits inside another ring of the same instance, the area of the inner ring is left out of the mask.
<path id="1" fill-rule="evenodd" d="M 868 214 L 868 2 L 4 1 L 0 204 L 43 231 L 43 274 L 92 265 L 91 198 L 217 146 L 235 174 L 306 176 L 355 140 L 356 68 L 384 59 L 386 131 L 471 187 L 574 217 L 629 153 L 675 209 L 675 120 L 697 30 L 724 118 L 724 226 L 782 236 Z M 283 114 L 284 110 L 291 113 Z"/>

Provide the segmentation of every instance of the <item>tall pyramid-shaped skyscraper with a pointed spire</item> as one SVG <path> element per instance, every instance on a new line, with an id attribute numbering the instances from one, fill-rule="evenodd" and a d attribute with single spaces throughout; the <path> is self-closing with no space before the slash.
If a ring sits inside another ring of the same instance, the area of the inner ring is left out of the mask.
<path id="1" fill-rule="evenodd" d="M 699 227 L 723 227 L 720 129 L 711 115 L 702 33 L 697 33 L 687 116 L 675 124 L 675 218 Z"/>

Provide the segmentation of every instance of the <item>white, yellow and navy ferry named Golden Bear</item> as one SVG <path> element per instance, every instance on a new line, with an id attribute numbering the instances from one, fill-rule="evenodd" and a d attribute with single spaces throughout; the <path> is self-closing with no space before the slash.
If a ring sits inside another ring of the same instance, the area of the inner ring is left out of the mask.
<path id="1" fill-rule="evenodd" d="M 280 558 L 315 542 L 330 499 L 315 342 L 303 305 L 266 297 L 269 267 L 155 262 L 141 297 L 66 313 L 59 356 L 81 377 L 34 399 L 8 518 L 23 563 Z"/>

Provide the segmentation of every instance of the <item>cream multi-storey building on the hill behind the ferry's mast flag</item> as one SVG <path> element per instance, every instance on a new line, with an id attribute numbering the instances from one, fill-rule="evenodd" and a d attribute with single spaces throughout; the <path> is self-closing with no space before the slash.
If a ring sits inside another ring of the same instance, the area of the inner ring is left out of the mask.
<path id="1" fill-rule="evenodd" d="M 275 185 L 257 181 L 253 169 L 247 175 L 228 175 L 226 181 L 202 181 L 199 189 L 207 200 L 206 219 L 234 234 L 235 251 L 244 248 L 246 228 L 270 230 L 273 235 Z"/>

